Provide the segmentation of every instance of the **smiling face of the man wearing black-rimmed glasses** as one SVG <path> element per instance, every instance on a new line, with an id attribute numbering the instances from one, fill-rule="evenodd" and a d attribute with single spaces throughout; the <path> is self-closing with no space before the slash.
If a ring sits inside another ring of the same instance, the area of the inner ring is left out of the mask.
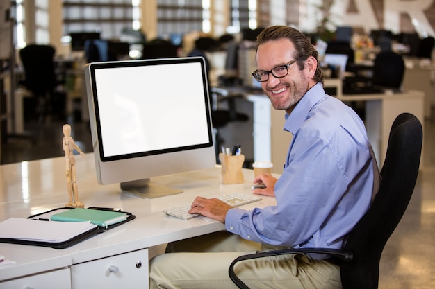
<path id="1" fill-rule="evenodd" d="M 295 47 L 288 39 L 272 40 L 258 46 L 256 53 L 257 69 L 270 71 L 280 65 L 295 60 Z M 309 75 L 299 70 L 297 62 L 288 67 L 288 74 L 276 78 L 269 73 L 269 79 L 261 82 L 261 88 L 270 99 L 275 110 L 286 110 L 288 114 L 309 89 Z"/>

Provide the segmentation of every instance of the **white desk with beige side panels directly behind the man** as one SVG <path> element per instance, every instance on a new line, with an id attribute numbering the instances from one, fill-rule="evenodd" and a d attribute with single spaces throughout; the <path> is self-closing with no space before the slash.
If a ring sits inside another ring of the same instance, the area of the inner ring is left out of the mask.
<path id="1" fill-rule="evenodd" d="M 254 103 L 254 160 L 270 159 L 274 173 L 282 173 L 291 134 L 284 132 L 284 112 L 274 110 L 270 100 L 262 95 L 247 94 L 247 100 Z M 368 138 L 381 168 L 384 164 L 386 147 L 391 125 L 397 115 L 411 112 L 424 123 L 424 98 L 421 91 L 405 91 L 400 94 L 355 94 L 337 96 L 346 101 L 366 103 L 366 128 Z M 423 153 L 422 153 L 423 155 Z"/>

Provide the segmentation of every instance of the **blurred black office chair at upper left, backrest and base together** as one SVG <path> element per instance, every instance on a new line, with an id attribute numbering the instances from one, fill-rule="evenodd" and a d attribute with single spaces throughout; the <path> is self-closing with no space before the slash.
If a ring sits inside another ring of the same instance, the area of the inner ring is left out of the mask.
<path id="1" fill-rule="evenodd" d="M 53 46 L 40 44 L 29 44 L 19 51 L 24 67 L 24 86 L 36 99 L 36 114 L 40 123 L 51 112 L 51 102 L 57 85 L 54 71 L 55 52 Z"/>

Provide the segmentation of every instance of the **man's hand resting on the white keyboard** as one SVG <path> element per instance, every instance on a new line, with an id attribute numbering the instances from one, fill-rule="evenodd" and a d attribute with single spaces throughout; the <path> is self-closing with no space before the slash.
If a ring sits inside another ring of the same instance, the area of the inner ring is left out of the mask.
<path id="1" fill-rule="evenodd" d="M 199 213 L 202 216 L 225 223 L 225 216 L 232 207 L 219 199 L 206 199 L 197 197 L 192 202 L 192 209 L 188 213 Z"/>

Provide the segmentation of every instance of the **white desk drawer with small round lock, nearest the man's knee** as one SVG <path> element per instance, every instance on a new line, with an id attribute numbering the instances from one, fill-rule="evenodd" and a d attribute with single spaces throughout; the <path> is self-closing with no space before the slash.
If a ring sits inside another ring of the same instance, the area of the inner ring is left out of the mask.
<path id="1" fill-rule="evenodd" d="M 148 288 L 148 249 L 71 266 L 72 288 Z"/>

